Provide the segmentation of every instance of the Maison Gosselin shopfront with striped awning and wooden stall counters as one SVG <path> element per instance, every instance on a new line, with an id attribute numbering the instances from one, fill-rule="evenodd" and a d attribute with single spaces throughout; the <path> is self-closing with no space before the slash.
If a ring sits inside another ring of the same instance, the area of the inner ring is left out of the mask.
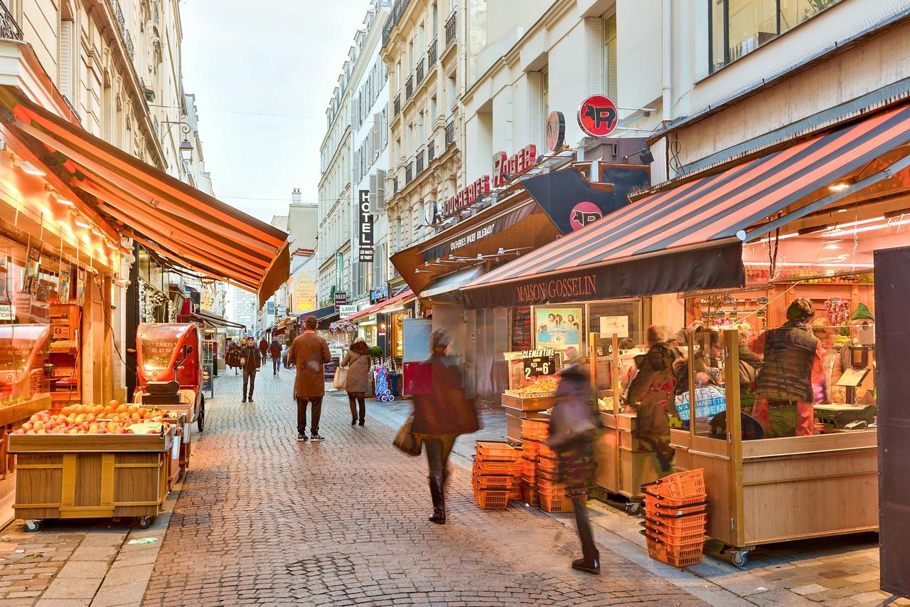
<path id="1" fill-rule="evenodd" d="M 575 347 L 569 314 L 582 313 L 578 349 L 599 359 L 594 380 L 608 427 L 598 446 L 598 483 L 634 492 L 673 467 L 704 468 L 709 535 L 735 549 L 736 564 L 764 543 L 875 530 L 870 272 L 875 249 L 910 242 L 902 227 L 910 213 L 908 141 L 910 106 L 898 105 L 642 192 L 585 230 L 465 285 L 465 303 L 537 306 L 535 345 L 555 343 L 567 354 Z M 814 309 L 819 373 L 814 402 L 784 428 L 793 436 L 781 436 L 741 362 L 751 360 L 753 329 L 783 324 L 798 297 Z M 642 298 L 637 338 L 633 310 L 612 307 L 634 298 Z M 595 304 L 587 313 L 573 304 L 599 300 L 612 310 L 597 323 Z M 635 345 L 644 345 L 642 328 L 654 324 L 668 327 L 663 333 L 685 353 L 688 386 L 678 390 L 662 446 L 643 445 L 635 409 L 621 406 L 628 376 L 616 316 L 628 317 Z M 564 330 L 554 337 L 551 326 Z M 800 515 L 769 517 L 780 504 Z"/>

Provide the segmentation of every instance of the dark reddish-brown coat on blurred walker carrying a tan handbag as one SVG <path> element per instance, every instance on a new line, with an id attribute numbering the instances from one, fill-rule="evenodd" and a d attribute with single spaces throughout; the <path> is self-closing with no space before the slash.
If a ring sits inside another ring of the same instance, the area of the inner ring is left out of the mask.
<path id="1" fill-rule="evenodd" d="M 431 355 L 414 369 L 413 432 L 423 435 L 460 435 L 477 432 L 480 424 L 473 401 L 461 386 L 457 366 Z"/>

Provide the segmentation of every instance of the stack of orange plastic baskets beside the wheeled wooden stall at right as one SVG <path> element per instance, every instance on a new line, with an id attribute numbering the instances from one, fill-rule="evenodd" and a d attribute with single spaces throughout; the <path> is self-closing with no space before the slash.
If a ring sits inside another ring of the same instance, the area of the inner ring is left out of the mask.
<path id="1" fill-rule="evenodd" d="M 673 567 L 701 562 L 708 521 L 704 470 L 677 472 L 642 485 L 642 492 L 642 534 L 651 558 Z"/>

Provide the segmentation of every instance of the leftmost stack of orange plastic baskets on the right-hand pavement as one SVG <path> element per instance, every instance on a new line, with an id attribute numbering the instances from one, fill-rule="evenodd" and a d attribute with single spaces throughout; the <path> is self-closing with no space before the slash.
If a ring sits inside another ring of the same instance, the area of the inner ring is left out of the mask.
<path id="1" fill-rule="evenodd" d="M 506 509 L 517 488 L 515 478 L 521 470 L 521 450 L 505 442 L 477 441 L 471 486 L 482 509 Z"/>

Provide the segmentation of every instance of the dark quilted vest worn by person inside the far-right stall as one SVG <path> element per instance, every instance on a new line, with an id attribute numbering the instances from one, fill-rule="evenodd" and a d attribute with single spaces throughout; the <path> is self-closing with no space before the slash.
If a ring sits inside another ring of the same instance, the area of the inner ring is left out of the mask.
<path id="1" fill-rule="evenodd" d="M 760 334 L 753 350 L 761 348 L 764 365 L 756 393 L 771 402 L 813 402 L 812 374 L 818 339 L 804 324 L 785 323 Z"/>

